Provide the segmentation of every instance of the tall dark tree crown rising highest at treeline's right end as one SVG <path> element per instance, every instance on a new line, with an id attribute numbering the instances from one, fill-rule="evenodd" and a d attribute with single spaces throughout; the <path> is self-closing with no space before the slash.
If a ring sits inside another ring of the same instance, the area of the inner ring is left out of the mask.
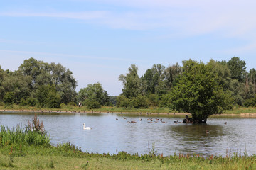
<path id="1" fill-rule="evenodd" d="M 231 72 L 231 78 L 237 79 L 239 82 L 244 82 L 246 78 L 246 63 L 240 60 L 239 57 L 233 57 L 228 62 L 228 69 Z"/>

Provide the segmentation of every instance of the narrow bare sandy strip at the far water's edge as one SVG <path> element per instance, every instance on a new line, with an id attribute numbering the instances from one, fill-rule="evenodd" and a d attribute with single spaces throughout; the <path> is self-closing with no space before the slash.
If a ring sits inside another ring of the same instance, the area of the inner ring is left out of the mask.
<path id="1" fill-rule="evenodd" d="M 117 111 L 52 111 L 52 110 L 21 110 L 21 109 L 0 109 L 0 113 L 17 113 L 17 112 L 31 112 L 31 113 L 114 113 L 114 114 L 137 114 L 137 115 L 191 115 L 191 113 L 138 113 L 138 112 L 117 112 Z M 240 117 L 255 117 L 256 113 L 223 113 L 215 114 L 211 116 L 240 116 Z"/>

